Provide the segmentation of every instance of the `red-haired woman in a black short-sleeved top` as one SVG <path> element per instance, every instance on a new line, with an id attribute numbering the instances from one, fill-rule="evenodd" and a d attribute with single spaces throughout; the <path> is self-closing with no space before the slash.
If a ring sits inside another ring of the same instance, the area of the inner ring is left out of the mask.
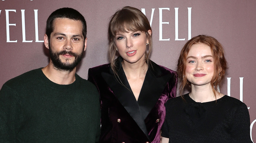
<path id="1" fill-rule="evenodd" d="M 178 60 L 181 93 L 166 103 L 162 143 L 251 143 L 247 106 L 224 95 L 217 86 L 227 63 L 222 45 L 213 37 L 189 40 Z"/>

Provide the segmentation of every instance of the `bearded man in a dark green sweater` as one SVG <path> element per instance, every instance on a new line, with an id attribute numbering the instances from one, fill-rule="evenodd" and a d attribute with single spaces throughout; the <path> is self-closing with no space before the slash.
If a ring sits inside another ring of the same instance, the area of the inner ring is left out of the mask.
<path id="1" fill-rule="evenodd" d="M 96 87 L 78 76 L 86 49 L 86 21 L 73 8 L 48 18 L 50 62 L 7 81 L 0 90 L 0 142 L 98 142 Z"/>

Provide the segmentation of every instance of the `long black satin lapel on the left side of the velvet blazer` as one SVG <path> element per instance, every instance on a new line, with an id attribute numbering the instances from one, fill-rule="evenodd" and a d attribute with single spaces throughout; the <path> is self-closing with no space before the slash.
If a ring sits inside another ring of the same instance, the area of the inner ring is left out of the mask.
<path id="1" fill-rule="evenodd" d="M 131 87 L 127 81 L 123 68 L 119 70 L 118 76 L 122 81 L 122 84 L 125 85 L 125 87 L 120 84 L 121 83 L 120 80 L 118 79 L 118 77 L 115 77 L 114 74 L 102 72 L 101 75 L 106 81 L 106 83 L 109 85 L 111 90 L 116 95 L 118 101 L 124 106 L 126 111 L 136 121 L 140 129 L 144 132 L 144 134 L 147 135 L 147 137 L 149 137 L 148 131 L 144 122 L 144 118 L 142 118 L 139 104 L 132 93 Z M 117 79 L 120 83 L 117 81 Z"/>

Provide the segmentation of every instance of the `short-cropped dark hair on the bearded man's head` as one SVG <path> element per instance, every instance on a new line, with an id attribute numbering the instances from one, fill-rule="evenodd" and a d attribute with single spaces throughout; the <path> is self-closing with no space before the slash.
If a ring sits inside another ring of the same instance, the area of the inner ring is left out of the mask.
<path id="1" fill-rule="evenodd" d="M 55 11 L 48 17 L 46 22 L 46 35 L 48 36 L 48 39 L 50 40 L 51 33 L 53 32 L 53 22 L 56 18 L 68 18 L 75 21 L 81 21 L 83 24 L 83 36 L 84 40 L 86 38 L 87 28 L 86 28 L 86 21 L 83 17 L 83 15 L 78 12 L 77 10 L 73 8 L 60 8 Z"/>

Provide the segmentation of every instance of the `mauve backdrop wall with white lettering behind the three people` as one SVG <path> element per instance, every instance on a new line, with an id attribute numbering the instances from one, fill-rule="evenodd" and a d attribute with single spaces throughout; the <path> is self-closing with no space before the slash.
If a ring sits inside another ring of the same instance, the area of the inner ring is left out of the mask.
<path id="1" fill-rule="evenodd" d="M 77 68 L 87 79 L 90 67 L 109 62 L 108 22 L 124 6 L 147 16 L 153 31 L 151 60 L 172 70 L 191 37 L 205 34 L 223 44 L 229 69 L 220 90 L 247 105 L 251 139 L 256 142 L 255 0 L 0 0 L 0 87 L 48 64 L 43 44 L 46 20 L 62 7 L 77 9 L 87 21 L 87 49 Z"/>

